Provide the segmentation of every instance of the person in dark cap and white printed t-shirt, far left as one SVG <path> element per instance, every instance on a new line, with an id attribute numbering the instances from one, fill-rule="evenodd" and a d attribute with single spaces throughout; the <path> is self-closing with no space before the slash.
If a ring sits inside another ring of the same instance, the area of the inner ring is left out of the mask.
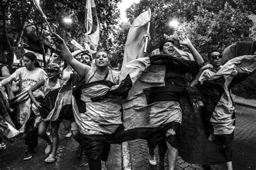
<path id="1" fill-rule="evenodd" d="M 20 80 L 22 82 L 22 92 L 30 89 L 33 85 L 35 85 L 39 80 L 46 78 L 47 74 L 43 69 L 41 69 L 40 64 L 37 61 L 37 57 L 33 52 L 26 52 L 23 57 L 24 67 L 17 69 L 11 76 L 5 78 L 0 81 L 0 87 L 11 83 L 12 81 Z M 42 89 L 38 89 L 33 92 L 35 97 L 42 94 Z M 24 103 L 25 105 L 25 103 Z M 24 107 L 30 107 L 28 105 Z M 24 125 L 26 120 L 28 120 L 28 112 L 22 112 L 20 115 L 20 123 Z M 36 153 L 36 147 L 38 145 L 38 132 L 37 129 L 26 132 L 25 135 L 25 144 L 27 144 L 27 148 L 25 151 L 25 155 L 23 160 L 29 160 L 33 157 L 33 153 Z"/>

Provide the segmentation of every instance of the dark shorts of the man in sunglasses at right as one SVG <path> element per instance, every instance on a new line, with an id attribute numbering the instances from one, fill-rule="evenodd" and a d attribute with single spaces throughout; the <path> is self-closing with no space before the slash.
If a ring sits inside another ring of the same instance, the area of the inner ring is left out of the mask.
<path id="1" fill-rule="evenodd" d="M 234 132 L 231 134 L 214 134 L 213 142 L 224 147 L 226 161 L 232 161 Z"/>

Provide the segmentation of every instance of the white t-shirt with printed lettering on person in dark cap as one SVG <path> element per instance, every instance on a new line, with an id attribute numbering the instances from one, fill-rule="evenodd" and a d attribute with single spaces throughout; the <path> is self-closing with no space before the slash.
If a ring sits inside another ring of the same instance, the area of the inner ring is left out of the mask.
<path id="1" fill-rule="evenodd" d="M 22 82 L 22 92 L 25 90 L 29 90 L 33 85 L 37 83 L 37 81 L 47 78 L 46 72 L 41 69 L 37 68 L 36 70 L 29 71 L 26 67 L 22 67 L 17 69 L 11 77 L 14 78 L 14 81 L 21 80 Z M 42 91 L 42 89 L 40 89 Z M 35 95 L 37 92 L 33 92 Z M 37 95 L 35 95 L 37 96 Z"/>

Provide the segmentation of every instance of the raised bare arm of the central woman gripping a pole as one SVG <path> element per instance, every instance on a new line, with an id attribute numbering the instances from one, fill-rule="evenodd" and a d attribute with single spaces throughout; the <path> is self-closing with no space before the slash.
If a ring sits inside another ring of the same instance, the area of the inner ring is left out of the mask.
<path id="1" fill-rule="evenodd" d="M 66 60 L 66 62 L 70 64 L 70 66 L 79 74 L 79 76 L 85 77 L 87 70 L 90 69 L 90 66 L 78 62 L 78 60 L 76 60 L 72 56 L 72 53 L 69 51 L 64 40 L 56 33 L 55 37 L 53 37 L 53 40 L 58 42 L 60 48 L 60 55 L 63 56 L 64 60 Z"/>

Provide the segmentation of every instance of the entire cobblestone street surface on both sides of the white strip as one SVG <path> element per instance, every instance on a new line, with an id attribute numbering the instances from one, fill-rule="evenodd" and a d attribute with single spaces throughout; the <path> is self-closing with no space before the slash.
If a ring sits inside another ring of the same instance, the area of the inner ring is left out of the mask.
<path id="1" fill-rule="evenodd" d="M 234 169 L 256 170 L 256 109 L 237 106 L 237 127 L 235 129 L 233 166 Z M 58 160 L 53 164 L 46 164 L 44 159 L 45 141 L 42 139 L 38 145 L 38 152 L 30 160 L 24 161 L 24 141 L 13 143 L 6 142 L 7 149 L 0 152 L 0 169 L 89 169 L 89 166 L 80 167 L 76 158 L 77 142 L 71 138 L 65 138 L 66 132 L 61 124 L 59 135 Z M 122 169 L 122 153 L 120 145 L 111 145 L 107 169 Z M 129 150 L 132 169 L 158 169 L 151 166 L 148 161 L 147 145 L 144 140 L 129 141 Z M 156 153 L 158 150 L 156 148 Z M 166 154 L 167 155 L 167 154 Z M 165 155 L 165 167 L 167 159 Z M 159 156 L 157 154 L 157 161 Z M 188 164 L 180 157 L 177 160 L 176 169 L 203 169 L 199 165 Z M 212 166 L 212 169 L 226 169 L 225 164 Z"/>

